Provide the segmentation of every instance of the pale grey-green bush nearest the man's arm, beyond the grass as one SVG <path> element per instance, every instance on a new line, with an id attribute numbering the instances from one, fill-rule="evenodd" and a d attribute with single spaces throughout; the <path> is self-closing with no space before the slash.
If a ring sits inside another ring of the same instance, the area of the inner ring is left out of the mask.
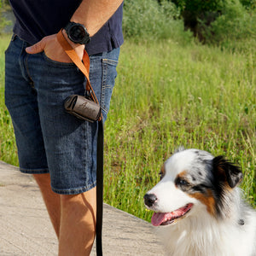
<path id="1" fill-rule="evenodd" d="M 190 33 L 183 32 L 183 21 L 177 20 L 179 10 L 166 0 L 127 0 L 124 5 L 123 30 L 126 38 L 135 41 L 155 41 L 173 38 L 188 41 Z"/>

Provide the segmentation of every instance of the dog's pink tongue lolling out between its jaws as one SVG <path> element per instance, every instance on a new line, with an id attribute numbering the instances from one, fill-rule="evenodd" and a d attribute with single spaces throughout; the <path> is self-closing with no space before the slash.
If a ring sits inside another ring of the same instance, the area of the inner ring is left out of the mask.
<path id="1" fill-rule="evenodd" d="M 160 226 L 160 224 L 165 223 L 166 221 L 172 221 L 175 218 L 179 218 L 183 216 L 188 210 L 190 206 L 181 207 L 173 212 L 154 212 L 151 223 L 154 226 Z"/>

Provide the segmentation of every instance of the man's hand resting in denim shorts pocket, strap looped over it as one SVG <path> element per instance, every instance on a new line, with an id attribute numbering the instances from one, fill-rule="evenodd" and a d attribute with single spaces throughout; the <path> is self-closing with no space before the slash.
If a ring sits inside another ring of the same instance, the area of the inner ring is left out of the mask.
<path id="1" fill-rule="evenodd" d="M 63 32 L 65 38 L 67 35 Z M 68 38 L 67 41 L 73 49 L 75 49 L 76 53 L 79 55 L 79 58 L 82 60 L 84 55 L 84 45 L 82 44 L 73 44 Z M 62 49 L 61 44 L 59 44 L 56 34 L 43 38 L 37 44 L 33 44 L 30 47 L 26 48 L 26 52 L 28 54 L 37 54 L 39 52 L 44 51 L 45 55 L 49 57 L 49 59 L 58 62 L 72 62 L 68 57 L 64 49 Z"/>

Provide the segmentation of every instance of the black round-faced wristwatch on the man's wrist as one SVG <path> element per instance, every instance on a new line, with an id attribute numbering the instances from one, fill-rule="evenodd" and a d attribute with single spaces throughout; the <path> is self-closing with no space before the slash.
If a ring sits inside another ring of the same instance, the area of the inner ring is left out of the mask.
<path id="1" fill-rule="evenodd" d="M 90 35 L 84 25 L 69 21 L 64 27 L 67 37 L 75 44 L 88 44 Z"/>

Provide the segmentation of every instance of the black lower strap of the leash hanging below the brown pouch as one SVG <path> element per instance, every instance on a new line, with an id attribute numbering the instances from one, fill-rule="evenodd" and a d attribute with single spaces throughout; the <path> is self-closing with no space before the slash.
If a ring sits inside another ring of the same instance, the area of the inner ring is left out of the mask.
<path id="1" fill-rule="evenodd" d="M 96 253 L 102 256 L 102 219 L 103 219 L 103 121 L 98 121 L 97 161 L 96 161 Z"/>

